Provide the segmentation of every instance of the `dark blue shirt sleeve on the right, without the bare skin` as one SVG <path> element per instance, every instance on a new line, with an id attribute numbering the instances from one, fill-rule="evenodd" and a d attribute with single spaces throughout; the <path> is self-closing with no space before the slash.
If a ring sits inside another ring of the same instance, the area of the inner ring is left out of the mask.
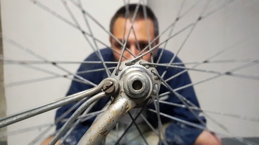
<path id="1" fill-rule="evenodd" d="M 173 55 L 174 55 L 173 53 L 167 51 L 166 53 L 163 54 L 163 58 L 161 59 L 160 63 L 169 63 Z M 181 60 L 178 57 L 175 57 L 174 63 L 181 63 Z M 180 66 L 184 67 L 184 65 L 180 65 Z M 182 72 L 184 69 L 180 69 L 180 68 L 166 69 L 165 67 L 157 67 L 157 71 L 159 75 L 163 74 L 165 70 L 167 70 L 167 73 L 164 76 L 164 79 L 166 80 L 171 76 L 174 76 L 179 72 Z M 191 84 L 191 79 L 189 77 L 188 72 L 184 72 L 178 75 L 177 77 L 171 79 L 170 81 L 167 81 L 167 83 L 170 85 L 172 89 L 177 89 L 179 87 Z M 160 94 L 168 91 L 170 90 L 164 85 L 160 86 L 160 91 L 159 91 Z M 181 96 L 183 96 L 186 100 L 190 101 L 195 106 L 200 107 L 193 86 L 189 86 L 184 89 L 179 89 L 176 92 L 179 93 Z M 168 95 L 168 99 L 166 100 L 166 102 L 184 105 L 182 101 L 172 92 Z M 151 106 L 150 108 L 154 109 L 153 106 Z M 202 120 L 203 122 L 206 123 L 205 117 L 201 116 L 200 115 L 201 112 L 197 110 L 193 110 L 193 112 L 195 112 L 196 114 L 196 115 L 193 115 L 192 112 L 189 111 L 189 109 L 177 107 L 173 105 L 159 103 L 159 108 L 160 108 L 160 112 L 173 116 L 180 120 L 188 121 L 201 126 L 202 126 L 202 123 L 199 120 Z M 199 119 L 196 116 L 198 116 Z M 155 118 L 157 117 L 154 113 L 148 114 L 148 120 L 151 123 L 153 124 L 157 123 L 157 119 Z M 163 123 L 171 122 L 170 125 L 166 128 L 166 132 L 165 132 L 168 144 L 185 144 L 185 145 L 193 144 L 197 139 L 197 137 L 200 135 L 200 133 L 203 131 L 203 129 L 192 127 L 161 115 L 160 115 L 160 118 Z"/>

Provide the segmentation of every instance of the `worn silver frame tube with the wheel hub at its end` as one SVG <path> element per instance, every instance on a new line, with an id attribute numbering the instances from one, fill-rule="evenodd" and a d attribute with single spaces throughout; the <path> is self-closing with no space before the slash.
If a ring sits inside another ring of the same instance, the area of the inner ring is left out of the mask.
<path id="1" fill-rule="evenodd" d="M 126 66 L 125 64 L 129 61 L 131 60 L 121 63 L 118 75 L 115 75 L 115 71 L 112 73 L 111 77 L 119 80 L 119 91 L 112 95 L 114 100 L 111 105 L 91 125 L 78 144 L 100 144 L 130 109 L 142 107 L 155 99 L 156 92 L 160 88 L 160 81 L 154 79 L 155 75 L 151 71 L 157 72 L 156 69 L 153 66 L 141 65 L 142 62 L 146 62 L 144 60 Z M 103 90 L 109 90 L 111 87 L 112 85 L 107 83 L 103 86 Z M 148 100 L 150 101 L 147 102 Z"/>

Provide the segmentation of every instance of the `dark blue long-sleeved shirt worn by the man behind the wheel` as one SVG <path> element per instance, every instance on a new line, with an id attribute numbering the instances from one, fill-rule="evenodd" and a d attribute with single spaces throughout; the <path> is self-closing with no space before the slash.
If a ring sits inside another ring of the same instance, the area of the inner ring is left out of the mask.
<path id="1" fill-rule="evenodd" d="M 100 50 L 104 61 L 115 61 L 113 53 L 111 49 L 106 48 Z M 154 58 L 154 62 L 156 62 L 159 54 L 161 53 L 161 49 L 158 50 L 156 57 Z M 164 51 L 163 55 L 160 59 L 159 63 L 169 63 L 170 60 L 173 58 L 174 54 L 169 51 Z M 92 53 L 90 56 L 88 56 L 85 61 L 100 61 L 99 58 L 97 57 L 96 53 Z M 181 63 L 181 60 L 179 58 L 175 58 L 174 63 Z M 116 65 L 114 64 L 107 64 L 107 67 L 114 67 Z M 181 65 L 183 66 L 183 65 Z M 93 69 L 100 69 L 104 68 L 102 64 L 81 64 L 77 72 L 85 71 L 85 70 L 93 70 Z M 166 67 L 157 67 L 156 68 L 159 75 L 163 74 L 163 72 L 166 70 Z M 164 77 L 164 79 L 167 79 L 178 72 L 181 72 L 183 69 L 180 68 L 168 68 L 167 73 Z M 98 71 L 98 72 L 90 72 L 90 73 L 83 73 L 80 74 L 83 78 L 95 83 L 99 84 L 103 79 L 107 78 L 107 74 L 105 71 Z M 173 88 L 178 88 L 181 86 L 184 86 L 186 84 L 191 83 L 190 77 L 187 72 L 177 76 L 176 78 L 168 81 L 168 84 Z M 86 89 L 92 88 L 92 86 L 80 83 L 77 81 L 72 81 L 71 86 L 69 88 L 69 91 L 67 95 L 71 95 Z M 159 93 L 164 93 L 169 91 L 165 86 L 161 85 Z M 177 91 L 180 93 L 182 96 L 184 96 L 187 100 L 195 104 L 196 106 L 199 107 L 198 100 L 196 98 L 195 91 L 192 86 L 181 89 Z M 101 110 L 106 103 L 109 101 L 109 98 L 104 98 L 101 99 L 92 109 L 90 112 L 95 112 L 98 110 Z M 169 94 L 169 98 L 166 100 L 171 103 L 177 103 L 177 104 L 182 104 L 182 102 L 173 94 Z M 61 116 L 64 112 L 69 110 L 75 103 L 63 106 L 59 108 L 56 112 L 55 119 Z M 160 104 L 160 112 L 177 117 L 179 119 L 183 119 L 192 123 L 196 124 L 201 124 L 199 120 L 186 108 L 181 108 L 181 107 L 174 107 L 171 105 L 166 105 L 166 104 Z M 148 108 L 155 109 L 153 104 L 150 104 Z M 76 108 L 77 109 L 77 108 Z M 75 110 L 76 110 L 75 109 Z M 74 111 L 75 111 L 74 110 Z M 198 114 L 199 112 L 197 112 Z M 73 114 L 71 112 L 66 116 L 66 118 L 70 117 Z M 83 136 L 83 134 L 87 131 L 91 123 L 93 122 L 95 117 L 86 120 L 82 123 L 80 123 L 76 129 L 71 133 L 70 137 L 66 140 L 67 144 L 76 144 L 80 140 L 80 138 Z M 161 121 L 163 123 L 167 122 L 172 122 L 169 118 L 161 116 Z M 203 121 L 206 122 L 206 119 L 204 117 L 201 118 Z M 155 113 L 147 111 L 147 120 L 154 126 L 157 126 L 157 116 Z M 57 123 L 56 124 L 56 129 L 60 129 L 64 123 Z M 196 140 L 196 138 L 199 136 L 199 134 L 202 132 L 202 129 L 194 128 L 188 125 L 184 125 L 179 122 L 173 121 L 169 127 L 166 129 L 166 138 L 168 144 L 192 144 Z M 66 143 L 66 142 L 65 142 Z"/>

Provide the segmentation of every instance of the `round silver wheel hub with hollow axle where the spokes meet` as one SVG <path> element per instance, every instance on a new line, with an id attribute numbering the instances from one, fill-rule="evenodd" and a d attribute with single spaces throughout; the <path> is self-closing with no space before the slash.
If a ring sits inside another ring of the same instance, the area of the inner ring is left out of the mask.
<path id="1" fill-rule="evenodd" d="M 122 62 L 118 74 L 115 75 L 114 71 L 111 77 L 120 82 L 118 95 L 130 99 L 130 104 L 139 108 L 155 99 L 160 88 L 160 81 L 155 79 L 157 76 L 152 73 L 152 71 L 157 73 L 154 66 L 142 65 L 147 61 L 139 60 L 131 63 L 130 66 L 126 65 L 130 61 Z"/>

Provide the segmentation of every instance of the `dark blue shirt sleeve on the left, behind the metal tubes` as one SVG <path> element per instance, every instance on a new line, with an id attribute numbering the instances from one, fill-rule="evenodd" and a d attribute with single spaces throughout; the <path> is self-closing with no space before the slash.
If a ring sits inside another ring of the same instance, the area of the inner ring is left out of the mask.
<path id="1" fill-rule="evenodd" d="M 91 54 L 89 57 L 87 57 L 85 59 L 85 61 L 99 61 L 98 57 L 96 57 L 95 54 Z M 99 84 L 104 76 L 103 72 L 90 72 L 90 73 L 80 73 L 83 71 L 87 71 L 87 70 L 93 70 L 93 69 L 97 69 L 98 67 L 103 67 L 100 65 L 92 65 L 92 64 L 81 64 L 79 69 L 77 70 L 77 74 L 80 75 L 81 77 L 95 83 L 95 84 Z M 77 77 L 74 77 L 75 79 L 78 79 Z M 71 94 L 75 94 L 77 92 L 80 91 L 84 91 L 87 89 L 92 88 L 93 86 L 88 85 L 86 83 L 82 83 L 82 82 L 78 82 L 73 80 L 71 82 L 70 88 L 66 94 L 66 96 L 71 95 Z M 90 112 L 93 112 L 95 110 L 100 109 L 101 106 L 103 106 L 103 104 L 105 104 L 106 101 L 99 101 L 99 106 L 98 107 L 93 107 Z M 71 103 L 65 106 L 60 107 L 59 109 L 57 109 L 56 111 L 56 115 L 55 115 L 55 124 L 56 124 L 56 130 L 59 130 L 63 125 L 64 125 L 64 121 L 58 121 L 58 118 L 70 118 L 72 116 L 72 114 L 83 104 L 84 102 L 78 103 Z M 100 105 L 101 103 L 101 105 Z M 75 106 L 77 104 L 77 106 Z M 67 115 L 63 115 L 64 113 L 67 113 Z M 60 119 L 59 119 L 60 120 Z M 84 133 L 89 129 L 91 123 L 93 122 L 94 117 L 90 118 L 84 122 L 80 122 L 76 128 L 71 132 L 71 134 L 69 135 L 69 137 L 64 141 L 64 144 L 77 144 L 77 142 L 80 140 L 80 138 L 84 135 Z"/>

